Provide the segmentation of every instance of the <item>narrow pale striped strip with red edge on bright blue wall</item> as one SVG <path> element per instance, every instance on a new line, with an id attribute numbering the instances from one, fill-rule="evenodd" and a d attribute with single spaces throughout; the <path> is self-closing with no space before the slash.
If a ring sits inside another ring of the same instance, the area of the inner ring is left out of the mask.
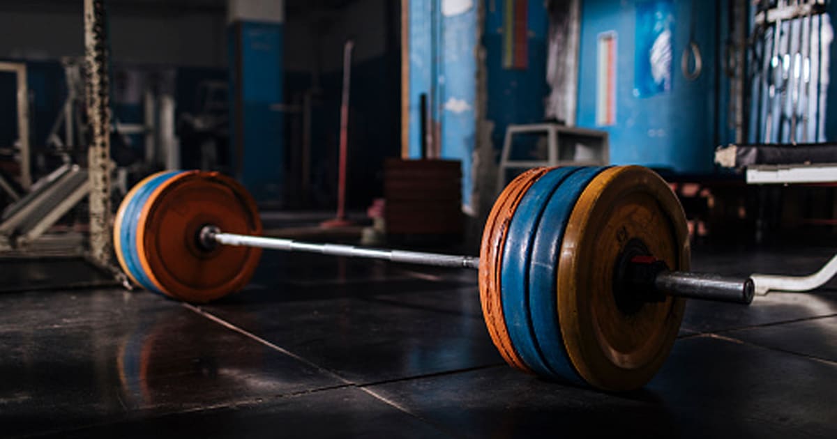
<path id="1" fill-rule="evenodd" d="M 616 32 L 598 34 L 596 125 L 616 125 Z"/>

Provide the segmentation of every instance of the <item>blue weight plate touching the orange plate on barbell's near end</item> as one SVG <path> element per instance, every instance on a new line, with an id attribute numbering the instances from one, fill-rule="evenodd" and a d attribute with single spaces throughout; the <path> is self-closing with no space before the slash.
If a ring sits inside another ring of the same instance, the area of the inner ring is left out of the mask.
<path id="1" fill-rule="evenodd" d="M 517 354 L 537 375 L 555 377 L 543 360 L 529 319 L 526 289 L 529 278 L 529 256 L 538 220 L 552 192 L 578 167 L 562 167 L 547 172 L 526 191 L 514 217 L 511 218 L 501 265 L 501 298 L 506 329 Z"/>

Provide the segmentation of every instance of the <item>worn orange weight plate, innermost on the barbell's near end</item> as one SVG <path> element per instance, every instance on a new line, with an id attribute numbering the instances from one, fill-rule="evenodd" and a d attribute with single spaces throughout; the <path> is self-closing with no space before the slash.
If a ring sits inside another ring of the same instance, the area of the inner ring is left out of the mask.
<path id="1" fill-rule="evenodd" d="M 506 363 L 530 373 L 529 367 L 517 355 L 506 329 L 501 300 L 501 257 L 506 232 L 521 197 L 546 172 L 547 168 L 543 167 L 530 169 L 506 186 L 494 202 L 494 207 L 491 207 L 480 242 L 480 303 L 485 326 Z"/>

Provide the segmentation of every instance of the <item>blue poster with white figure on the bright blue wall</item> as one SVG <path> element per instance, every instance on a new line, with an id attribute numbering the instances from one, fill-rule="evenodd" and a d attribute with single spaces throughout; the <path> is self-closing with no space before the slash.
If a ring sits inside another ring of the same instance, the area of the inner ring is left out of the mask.
<path id="1" fill-rule="evenodd" d="M 671 91 L 674 32 L 673 0 L 636 4 L 634 96 L 646 98 Z"/>

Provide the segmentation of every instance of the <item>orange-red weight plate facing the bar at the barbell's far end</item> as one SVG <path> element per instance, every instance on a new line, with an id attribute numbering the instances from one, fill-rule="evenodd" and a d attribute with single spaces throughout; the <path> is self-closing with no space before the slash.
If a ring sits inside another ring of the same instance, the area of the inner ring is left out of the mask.
<path id="1" fill-rule="evenodd" d="M 249 283 L 261 249 L 198 245 L 198 232 L 213 225 L 223 232 L 258 236 L 255 202 L 236 181 L 217 172 L 188 172 L 159 186 L 137 222 L 137 253 L 151 281 L 188 302 L 208 302 Z"/>

